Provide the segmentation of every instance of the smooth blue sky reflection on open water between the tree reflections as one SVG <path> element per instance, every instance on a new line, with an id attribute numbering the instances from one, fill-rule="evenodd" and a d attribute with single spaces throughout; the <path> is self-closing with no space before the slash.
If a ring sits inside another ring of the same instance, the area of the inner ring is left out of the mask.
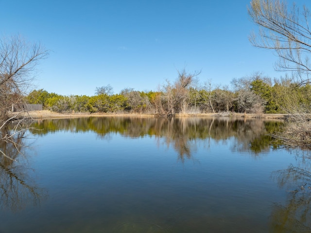
<path id="1" fill-rule="evenodd" d="M 49 199 L 28 210 L 36 220 L 23 215 L 5 219 L 0 213 L 4 229 L 10 229 L 13 221 L 18 224 L 10 232 L 21 230 L 18 226 L 31 229 L 39 222 L 38 229 L 57 232 L 62 224 L 99 227 L 99 219 L 113 224 L 115 216 L 128 215 L 162 222 L 168 210 L 182 208 L 189 218 L 218 216 L 230 222 L 239 215 L 245 228 L 256 221 L 264 231 L 272 203 L 282 203 L 286 197 L 271 173 L 295 164 L 293 156 L 284 150 L 256 158 L 233 152 L 233 138 L 197 142 L 191 142 L 195 150 L 181 162 L 164 138 L 133 139 L 115 133 L 100 138 L 93 132 L 61 131 L 38 137 L 34 169 L 37 184 L 48 189 Z"/>

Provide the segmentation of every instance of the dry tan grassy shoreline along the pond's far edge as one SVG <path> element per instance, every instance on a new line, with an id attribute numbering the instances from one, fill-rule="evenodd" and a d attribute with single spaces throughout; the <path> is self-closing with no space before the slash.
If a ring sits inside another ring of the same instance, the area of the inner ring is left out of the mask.
<path id="1" fill-rule="evenodd" d="M 49 110 L 29 111 L 22 116 L 30 116 L 33 119 L 53 119 L 53 118 L 78 118 L 78 117 L 161 117 L 158 114 L 114 114 L 114 113 L 57 113 Z M 244 113 L 177 113 L 174 117 L 241 117 L 284 120 L 288 114 L 244 114 Z"/>

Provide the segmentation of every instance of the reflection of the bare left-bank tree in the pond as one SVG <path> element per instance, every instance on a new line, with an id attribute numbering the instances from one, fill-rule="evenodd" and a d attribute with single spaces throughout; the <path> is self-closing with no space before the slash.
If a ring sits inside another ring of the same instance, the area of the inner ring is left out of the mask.
<path id="1" fill-rule="evenodd" d="M 3 136 L 4 132 L 0 132 Z M 0 140 L 0 149 L 11 159 L 0 155 L 0 209 L 17 212 L 28 205 L 37 205 L 46 192 L 37 187 L 30 174 L 29 155 L 25 154 L 25 131 L 12 141 Z M 27 142 L 27 139 L 26 139 Z"/>

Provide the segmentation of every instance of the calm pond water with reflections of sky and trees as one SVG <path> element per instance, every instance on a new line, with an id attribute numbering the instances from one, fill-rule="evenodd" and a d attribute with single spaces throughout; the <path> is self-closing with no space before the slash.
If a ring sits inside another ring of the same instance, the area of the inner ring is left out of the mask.
<path id="1" fill-rule="evenodd" d="M 281 122 L 90 117 L 1 143 L 0 233 L 307 233 L 311 159 Z"/>

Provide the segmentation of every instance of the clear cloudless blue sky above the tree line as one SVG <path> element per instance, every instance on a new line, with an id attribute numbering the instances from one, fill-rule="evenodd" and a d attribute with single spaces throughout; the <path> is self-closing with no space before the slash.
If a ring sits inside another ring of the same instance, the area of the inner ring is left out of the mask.
<path id="1" fill-rule="evenodd" d="M 0 34 L 19 34 L 51 50 L 36 89 L 94 95 L 110 84 L 158 90 L 176 70 L 202 71 L 202 83 L 229 85 L 277 58 L 254 48 L 250 0 L 0 0 Z"/>

